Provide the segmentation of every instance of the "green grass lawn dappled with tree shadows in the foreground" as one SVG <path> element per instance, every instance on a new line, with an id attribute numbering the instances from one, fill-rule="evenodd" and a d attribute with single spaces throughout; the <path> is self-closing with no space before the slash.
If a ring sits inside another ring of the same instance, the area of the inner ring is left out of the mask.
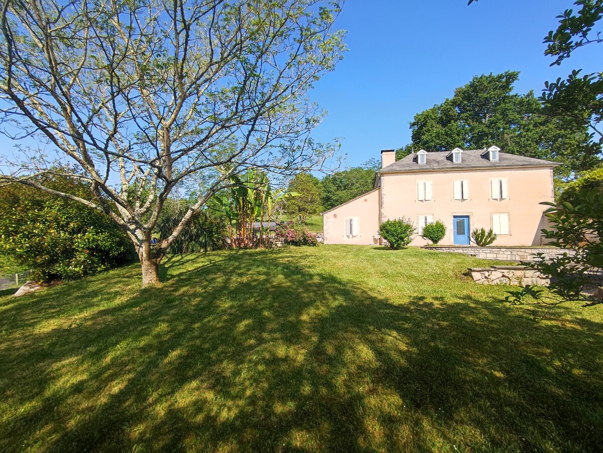
<path id="1" fill-rule="evenodd" d="M 603 308 L 453 253 L 174 256 L 0 297 L 0 451 L 600 451 Z"/>

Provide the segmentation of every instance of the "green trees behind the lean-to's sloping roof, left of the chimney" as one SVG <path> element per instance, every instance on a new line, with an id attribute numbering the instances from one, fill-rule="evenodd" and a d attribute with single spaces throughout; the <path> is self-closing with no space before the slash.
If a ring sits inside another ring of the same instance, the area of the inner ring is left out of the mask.
<path id="1" fill-rule="evenodd" d="M 321 181 L 321 201 L 324 210 L 332 209 L 373 190 L 375 164 L 371 168 L 350 168 L 327 175 Z M 367 165 L 365 164 L 365 165 Z"/>

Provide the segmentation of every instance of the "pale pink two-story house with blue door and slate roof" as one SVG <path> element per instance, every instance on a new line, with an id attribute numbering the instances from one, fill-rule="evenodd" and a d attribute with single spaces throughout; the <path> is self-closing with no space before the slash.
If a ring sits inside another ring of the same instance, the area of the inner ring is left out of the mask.
<path id="1" fill-rule="evenodd" d="M 493 229 L 496 246 L 536 246 L 545 227 L 540 204 L 554 199 L 548 160 L 502 153 L 498 147 L 410 154 L 396 162 L 381 151 L 373 191 L 323 213 L 325 244 L 379 244 L 379 225 L 399 217 L 417 227 L 413 246 L 428 243 L 423 227 L 440 220 L 440 244 L 467 245 L 473 229 Z"/>

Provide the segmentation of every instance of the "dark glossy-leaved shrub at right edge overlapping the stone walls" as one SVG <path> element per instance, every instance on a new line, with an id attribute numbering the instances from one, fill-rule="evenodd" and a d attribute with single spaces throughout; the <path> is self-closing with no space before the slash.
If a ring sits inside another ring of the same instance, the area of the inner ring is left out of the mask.
<path id="1" fill-rule="evenodd" d="M 566 301 L 584 302 L 585 305 L 603 303 L 601 296 L 589 296 L 582 293 L 584 285 L 599 285 L 596 274 L 603 268 L 603 197 L 601 188 L 584 187 L 573 193 L 572 202 L 543 203 L 551 206 L 546 217 L 552 223 L 552 229 L 543 229 L 546 239 L 552 246 L 574 252 L 545 261 L 524 263 L 542 274 L 551 276 L 550 292 L 525 290 L 513 291 L 507 300 L 514 304 L 538 303 L 557 305 Z"/>

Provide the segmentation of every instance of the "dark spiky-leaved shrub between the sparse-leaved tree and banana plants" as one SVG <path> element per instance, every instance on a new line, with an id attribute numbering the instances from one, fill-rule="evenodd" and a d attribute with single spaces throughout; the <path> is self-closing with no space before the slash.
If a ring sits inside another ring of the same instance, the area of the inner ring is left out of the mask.
<path id="1" fill-rule="evenodd" d="M 164 208 L 162 217 L 157 221 L 156 231 L 165 239 L 178 226 L 186 214 L 188 204 L 174 203 Z M 226 221 L 207 211 L 197 211 L 186 224 L 180 235 L 169 246 L 168 253 L 210 252 L 226 248 Z"/>

